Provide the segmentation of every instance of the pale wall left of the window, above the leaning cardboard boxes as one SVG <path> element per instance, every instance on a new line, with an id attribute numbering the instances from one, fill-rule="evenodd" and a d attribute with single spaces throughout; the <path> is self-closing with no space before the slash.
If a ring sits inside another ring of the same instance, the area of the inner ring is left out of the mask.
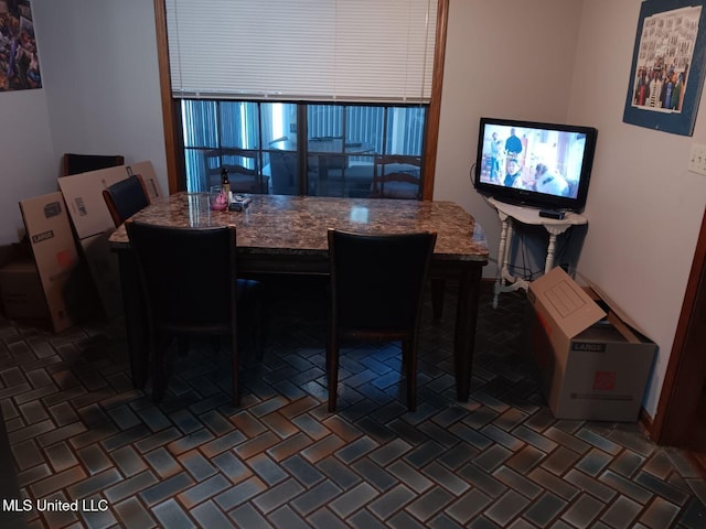
<path id="1" fill-rule="evenodd" d="M 42 89 L 0 94 L 0 245 L 18 201 L 57 190 L 64 152 L 150 160 L 167 192 L 152 0 L 32 0 Z"/>

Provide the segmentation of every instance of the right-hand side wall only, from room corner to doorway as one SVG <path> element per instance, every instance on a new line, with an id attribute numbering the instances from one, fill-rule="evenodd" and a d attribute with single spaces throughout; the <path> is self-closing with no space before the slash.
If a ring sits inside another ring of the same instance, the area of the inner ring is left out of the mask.
<path id="1" fill-rule="evenodd" d="M 599 130 L 579 268 L 660 346 L 644 403 L 654 417 L 706 205 L 706 177 L 686 170 L 706 108 L 693 137 L 622 122 L 640 4 L 584 2 L 569 119 Z"/>

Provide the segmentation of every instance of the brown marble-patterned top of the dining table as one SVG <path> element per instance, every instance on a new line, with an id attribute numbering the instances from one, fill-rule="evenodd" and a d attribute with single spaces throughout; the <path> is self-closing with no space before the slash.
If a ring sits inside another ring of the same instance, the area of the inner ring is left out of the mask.
<path id="1" fill-rule="evenodd" d="M 486 261 L 481 226 L 452 202 L 252 195 L 244 212 L 214 212 L 206 193 L 176 193 L 159 198 L 135 215 L 136 220 L 163 226 L 234 225 L 240 250 L 268 249 L 320 253 L 328 248 L 327 229 L 379 234 L 436 230 L 435 259 Z M 125 227 L 110 236 L 114 248 L 128 245 Z"/>

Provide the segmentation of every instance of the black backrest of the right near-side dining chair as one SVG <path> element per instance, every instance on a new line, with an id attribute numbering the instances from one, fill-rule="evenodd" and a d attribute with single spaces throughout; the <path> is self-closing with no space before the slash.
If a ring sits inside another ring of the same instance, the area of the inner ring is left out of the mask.
<path id="1" fill-rule="evenodd" d="M 383 333 L 414 327 L 436 240 L 434 231 L 363 235 L 330 228 L 333 325 Z"/>

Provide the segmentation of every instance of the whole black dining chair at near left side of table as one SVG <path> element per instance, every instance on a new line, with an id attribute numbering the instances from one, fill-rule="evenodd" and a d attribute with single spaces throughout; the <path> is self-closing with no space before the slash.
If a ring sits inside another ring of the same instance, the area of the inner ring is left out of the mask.
<path id="1" fill-rule="evenodd" d="M 239 404 L 238 326 L 250 327 L 261 353 L 259 283 L 237 279 L 236 229 L 175 228 L 128 220 L 148 315 L 152 397 L 167 387 L 165 356 L 174 337 L 227 336 L 233 403 Z"/>

